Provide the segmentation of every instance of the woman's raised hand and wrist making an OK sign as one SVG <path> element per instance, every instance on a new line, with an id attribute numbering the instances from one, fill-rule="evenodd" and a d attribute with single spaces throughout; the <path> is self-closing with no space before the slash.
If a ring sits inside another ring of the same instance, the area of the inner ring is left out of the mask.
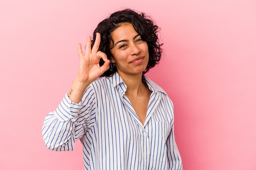
<path id="1" fill-rule="evenodd" d="M 79 70 L 68 93 L 68 97 L 72 102 L 79 103 L 86 88 L 109 68 L 110 61 L 107 55 L 98 51 L 100 42 L 101 35 L 97 33 L 94 46 L 91 49 L 91 37 L 88 36 L 85 54 L 83 53 L 81 44 L 78 44 L 80 58 Z M 103 66 L 99 66 L 99 60 L 101 58 L 105 62 Z"/>

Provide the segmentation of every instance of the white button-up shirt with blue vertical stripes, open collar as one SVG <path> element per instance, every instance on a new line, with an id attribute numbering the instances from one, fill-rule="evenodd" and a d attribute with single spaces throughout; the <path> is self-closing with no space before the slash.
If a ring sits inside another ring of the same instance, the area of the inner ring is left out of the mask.
<path id="1" fill-rule="evenodd" d="M 173 103 L 157 84 L 146 76 L 143 80 L 152 91 L 144 125 L 116 72 L 92 82 L 79 104 L 65 95 L 45 117 L 46 147 L 73 150 L 80 139 L 85 170 L 182 170 L 173 132 Z"/>

